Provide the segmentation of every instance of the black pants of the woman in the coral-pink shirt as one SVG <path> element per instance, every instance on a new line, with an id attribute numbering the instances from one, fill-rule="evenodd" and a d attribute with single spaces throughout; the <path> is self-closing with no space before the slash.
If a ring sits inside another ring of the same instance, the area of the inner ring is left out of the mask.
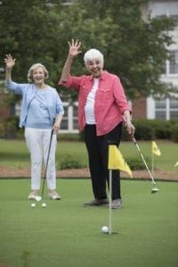
<path id="1" fill-rule="evenodd" d="M 122 123 L 109 134 L 96 136 L 95 125 L 85 125 L 85 145 L 88 152 L 89 168 L 92 178 L 94 198 L 107 198 L 106 184 L 109 188 L 108 151 L 109 141 L 119 145 Z M 112 171 L 112 199 L 121 198 L 120 172 Z"/>

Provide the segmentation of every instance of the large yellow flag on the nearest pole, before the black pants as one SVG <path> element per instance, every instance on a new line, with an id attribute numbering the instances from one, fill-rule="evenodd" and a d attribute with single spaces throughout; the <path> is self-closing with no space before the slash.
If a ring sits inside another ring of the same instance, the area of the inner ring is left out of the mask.
<path id="1" fill-rule="evenodd" d="M 121 170 L 133 178 L 133 173 L 130 167 L 126 164 L 125 159 L 122 157 L 116 145 L 109 145 L 109 170 Z"/>

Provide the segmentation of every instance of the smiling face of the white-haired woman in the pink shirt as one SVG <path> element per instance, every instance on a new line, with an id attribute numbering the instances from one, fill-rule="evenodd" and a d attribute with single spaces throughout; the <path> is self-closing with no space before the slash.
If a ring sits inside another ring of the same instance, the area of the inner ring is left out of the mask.
<path id="1" fill-rule="evenodd" d="M 94 78 L 101 77 L 103 72 L 103 64 L 99 59 L 94 59 L 93 61 L 86 61 L 86 69 L 92 74 Z"/>

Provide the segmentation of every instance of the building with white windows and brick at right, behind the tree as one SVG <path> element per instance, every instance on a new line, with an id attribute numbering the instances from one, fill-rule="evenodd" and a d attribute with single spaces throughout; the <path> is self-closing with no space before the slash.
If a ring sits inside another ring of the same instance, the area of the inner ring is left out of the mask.
<path id="1" fill-rule="evenodd" d="M 148 1 L 142 7 L 143 18 L 149 13 L 152 17 L 166 15 L 177 21 L 177 27 L 169 33 L 173 37 L 174 44 L 167 47 L 170 60 L 165 62 L 165 73 L 161 75 L 160 79 L 178 87 L 178 1 Z M 142 113 L 140 116 L 138 107 Z M 145 100 L 134 101 L 133 109 L 135 118 L 178 119 L 178 99 L 174 98 L 174 95 L 172 99 L 155 100 L 150 96 Z"/>

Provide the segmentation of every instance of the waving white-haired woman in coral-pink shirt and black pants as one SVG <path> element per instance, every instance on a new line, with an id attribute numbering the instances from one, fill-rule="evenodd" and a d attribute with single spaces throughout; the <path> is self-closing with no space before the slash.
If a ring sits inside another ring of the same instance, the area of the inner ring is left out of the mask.
<path id="1" fill-rule="evenodd" d="M 69 42 L 68 42 L 69 43 Z M 132 111 L 125 97 L 119 77 L 103 69 L 104 59 L 99 50 L 90 49 L 85 53 L 85 67 L 90 75 L 74 77 L 70 68 L 74 58 L 82 53 L 81 42 L 72 39 L 69 55 L 62 70 L 60 85 L 78 90 L 78 126 L 85 133 L 89 168 L 94 199 L 84 206 L 108 205 L 106 184 L 109 186 L 108 145 L 109 141 L 119 145 L 122 125 L 128 134 L 134 134 L 131 122 Z M 121 208 L 120 174 L 112 173 L 112 208 Z"/>

